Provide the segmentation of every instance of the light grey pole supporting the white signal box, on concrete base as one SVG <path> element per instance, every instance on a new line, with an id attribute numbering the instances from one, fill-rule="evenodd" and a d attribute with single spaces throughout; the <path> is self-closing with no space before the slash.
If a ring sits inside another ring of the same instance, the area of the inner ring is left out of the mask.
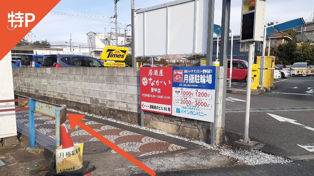
<path id="1" fill-rule="evenodd" d="M 245 125 L 244 125 L 244 142 L 250 142 L 249 138 L 249 119 L 250 119 L 250 101 L 251 101 L 251 77 L 252 77 L 252 64 L 253 64 L 253 54 L 254 54 L 254 44 L 249 43 L 249 58 L 248 58 L 248 68 L 247 68 L 247 84 L 246 84 L 246 109 L 245 109 Z"/>

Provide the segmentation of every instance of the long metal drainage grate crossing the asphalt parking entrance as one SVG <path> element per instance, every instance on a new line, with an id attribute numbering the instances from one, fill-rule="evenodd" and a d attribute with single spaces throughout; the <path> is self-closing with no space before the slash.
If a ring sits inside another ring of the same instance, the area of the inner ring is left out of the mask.
<path id="1" fill-rule="evenodd" d="M 311 111 L 314 107 L 286 107 L 286 108 L 257 108 L 250 109 L 250 112 L 262 111 Z M 245 112 L 245 109 L 226 109 L 226 112 Z"/>

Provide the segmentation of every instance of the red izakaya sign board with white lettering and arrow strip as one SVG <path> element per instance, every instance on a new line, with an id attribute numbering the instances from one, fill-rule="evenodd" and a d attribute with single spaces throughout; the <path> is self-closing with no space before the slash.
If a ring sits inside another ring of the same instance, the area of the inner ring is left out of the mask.
<path id="1" fill-rule="evenodd" d="M 172 67 L 142 67 L 141 110 L 171 115 Z"/>

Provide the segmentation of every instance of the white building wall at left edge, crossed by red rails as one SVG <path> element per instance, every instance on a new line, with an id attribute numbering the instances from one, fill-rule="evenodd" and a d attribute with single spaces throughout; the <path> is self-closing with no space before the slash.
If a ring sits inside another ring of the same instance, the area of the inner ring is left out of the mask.
<path id="1" fill-rule="evenodd" d="M 11 51 L 0 60 L 0 100 L 14 99 Z M 14 102 L 0 103 L 0 109 L 14 108 Z M 15 111 L 0 112 L 0 138 L 16 136 Z"/>

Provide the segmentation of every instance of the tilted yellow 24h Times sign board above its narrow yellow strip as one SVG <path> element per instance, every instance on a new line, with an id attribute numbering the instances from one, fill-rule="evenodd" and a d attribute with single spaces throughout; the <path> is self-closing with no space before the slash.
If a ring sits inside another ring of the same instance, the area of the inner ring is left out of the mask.
<path id="1" fill-rule="evenodd" d="M 106 46 L 100 55 L 101 60 L 125 60 L 129 48 Z"/>

